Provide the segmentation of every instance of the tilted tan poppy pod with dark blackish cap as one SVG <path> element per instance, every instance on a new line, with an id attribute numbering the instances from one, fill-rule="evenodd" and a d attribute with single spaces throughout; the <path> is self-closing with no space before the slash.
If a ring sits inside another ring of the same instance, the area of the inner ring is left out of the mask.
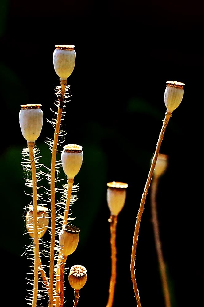
<path id="1" fill-rule="evenodd" d="M 64 258 L 74 253 L 79 243 L 79 228 L 64 225 L 59 233 L 60 251 Z"/>

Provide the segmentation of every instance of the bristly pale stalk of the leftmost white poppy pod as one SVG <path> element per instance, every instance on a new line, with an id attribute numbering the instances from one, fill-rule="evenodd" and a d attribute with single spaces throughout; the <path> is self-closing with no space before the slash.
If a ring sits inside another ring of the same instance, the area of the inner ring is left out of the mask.
<path id="1" fill-rule="evenodd" d="M 33 284 L 33 300 L 32 307 L 37 305 L 37 291 L 38 291 L 38 258 L 39 258 L 39 239 L 37 231 L 37 180 L 36 180 L 36 167 L 33 154 L 34 142 L 28 142 L 29 157 L 32 173 L 32 186 L 33 186 L 33 232 L 34 232 L 34 284 Z"/>

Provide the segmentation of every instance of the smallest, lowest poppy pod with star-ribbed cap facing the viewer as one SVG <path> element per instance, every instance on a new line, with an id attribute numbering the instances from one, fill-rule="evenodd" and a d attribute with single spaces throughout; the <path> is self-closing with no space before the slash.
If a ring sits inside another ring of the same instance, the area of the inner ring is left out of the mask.
<path id="1" fill-rule="evenodd" d="M 72 266 L 68 278 L 71 287 L 75 290 L 80 290 L 87 281 L 87 270 L 79 264 Z"/>

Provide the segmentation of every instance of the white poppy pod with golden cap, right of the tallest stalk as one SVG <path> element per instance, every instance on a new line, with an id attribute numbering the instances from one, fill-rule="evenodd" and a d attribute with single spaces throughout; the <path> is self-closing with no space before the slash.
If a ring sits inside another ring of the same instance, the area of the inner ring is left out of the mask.
<path id="1" fill-rule="evenodd" d="M 68 144 L 63 147 L 61 154 L 63 171 L 68 179 L 74 179 L 79 173 L 83 161 L 82 146 L 76 144 Z"/>

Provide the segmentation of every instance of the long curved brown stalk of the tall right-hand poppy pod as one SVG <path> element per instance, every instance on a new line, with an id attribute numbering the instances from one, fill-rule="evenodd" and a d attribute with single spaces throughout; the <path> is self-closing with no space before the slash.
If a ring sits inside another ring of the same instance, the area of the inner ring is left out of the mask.
<path id="1" fill-rule="evenodd" d="M 137 241 L 138 241 L 138 235 L 139 235 L 139 228 L 140 228 L 140 222 L 141 222 L 141 218 L 142 218 L 142 214 L 144 211 L 144 204 L 146 201 L 146 197 L 147 197 L 147 193 L 148 193 L 148 189 L 152 180 L 152 176 L 153 176 L 153 172 L 154 172 L 154 168 L 156 165 L 156 160 L 158 158 L 159 155 L 159 151 L 160 151 L 160 146 L 164 137 L 164 132 L 166 130 L 167 124 L 169 122 L 169 119 L 171 117 L 171 113 L 170 112 L 166 112 L 165 113 L 165 118 L 163 121 L 163 125 L 160 131 L 160 135 L 159 135 L 159 139 L 157 141 L 156 144 L 156 150 L 154 153 L 154 157 L 152 159 L 152 163 L 151 163 L 151 167 L 149 170 L 149 174 L 147 177 L 147 181 L 144 187 L 144 192 L 142 194 L 142 198 L 141 198 L 141 202 L 140 202 L 140 208 L 138 211 L 138 215 L 137 215 L 137 220 L 136 220 L 136 224 L 135 224 L 135 230 L 134 230 L 134 236 L 133 236 L 133 246 L 132 246 L 132 253 L 131 253 L 131 262 L 130 262 L 130 273 L 131 273 L 131 279 L 132 279 L 132 283 L 133 283 L 133 289 L 134 289 L 134 293 L 135 293 L 135 297 L 136 297 L 136 301 L 137 301 L 137 306 L 141 307 L 141 302 L 140 302 L 140 296 L 139 296 L 139 291 L 137 288 L 137 283 L 136 283 L 136 278 L 135 278 L 135 255 L 136 255 L 136 248 L 137 248 Z"/>

